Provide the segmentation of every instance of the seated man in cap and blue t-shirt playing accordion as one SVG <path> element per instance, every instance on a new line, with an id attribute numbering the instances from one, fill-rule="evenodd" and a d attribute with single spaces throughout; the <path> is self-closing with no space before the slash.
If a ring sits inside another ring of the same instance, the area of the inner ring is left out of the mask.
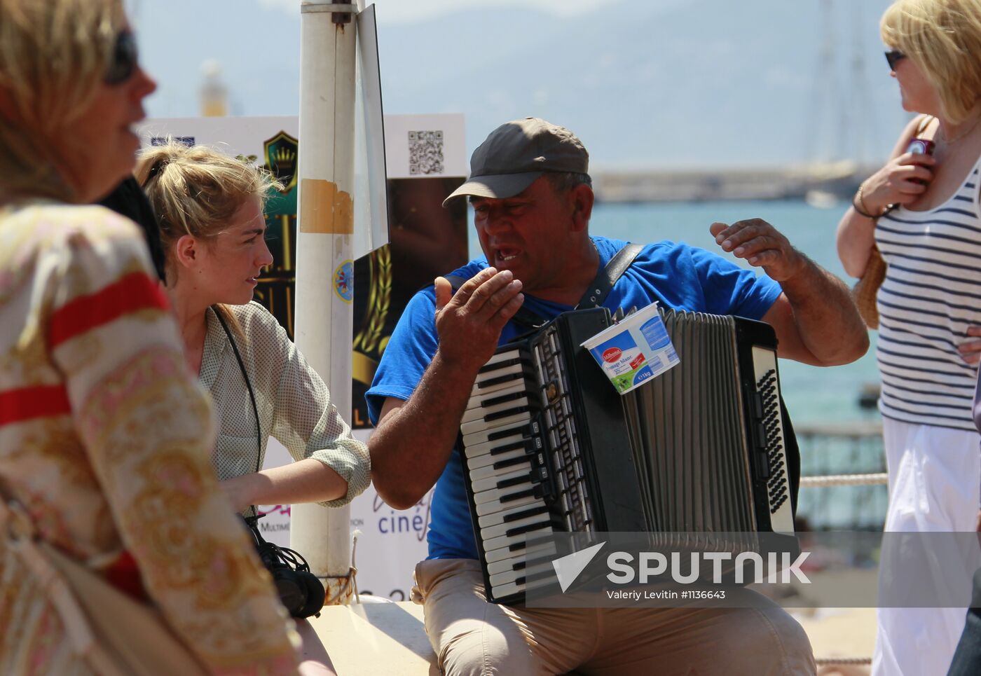
<path id="1" fill-rule="evenodd" d="M 448 674 L 803 674 L 814 672 L 800 625 L 773 604 L 755 608 L 547 608 L 490 603 L 468 513 L 460 419 L 478 370 L 524 329 L 519 308 L 551 319 L 575 307 L 626 242 L 589 234 L 589 154 L 569 130 L 529 118 L 493 130 L 471 176 L 447 201 L 469 196 L 486 258 L 419 291 L 402 315 L 368 391 L 377 430 L 372 476 L 396 508 L 436 484 L 429 558 L 413 598 Z M 444 203 L 445 204 L 445 203 Z M 757 278 L 723 256 L 646 245 L 602 305 L 739 315 L 769 323 L 779 355 L 831 366 L 868 347 L 849 291 L 770 224 L 716 223 L 724 251 L 761 267 Z M 713 650 L 706 650 L 711 646 Z"/>

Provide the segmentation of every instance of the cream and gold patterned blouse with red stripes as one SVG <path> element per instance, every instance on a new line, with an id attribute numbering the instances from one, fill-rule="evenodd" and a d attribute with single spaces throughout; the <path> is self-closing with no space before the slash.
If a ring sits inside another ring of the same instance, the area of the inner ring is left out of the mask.
<path id="1" fill-rule="evenodd" d="M 293 673 L 298 638 L 219 491 L 206 394 L 136 228 L 0 208 L 0 490 L 47 542 L 146 596 L 215 673 Z M 84 673 L 0 533 L 0 673 Z"/>

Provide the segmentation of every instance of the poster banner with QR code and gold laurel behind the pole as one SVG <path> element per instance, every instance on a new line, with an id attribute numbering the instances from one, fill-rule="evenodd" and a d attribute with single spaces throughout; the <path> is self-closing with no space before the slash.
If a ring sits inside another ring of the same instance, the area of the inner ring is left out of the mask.
<path id="1" fill-rule="evenodd" d="M 371 434 L 364 393 L 385 351 L 388 337 L 409 298 L 438 275 L 467 260 L 467 213 L 462 200 L 443 209 L 443 198 L 466 176 L 462 115 L 386 115 L 387 213 L 389 244 L 354 264 L 352 401 L 348 422 L 355 436 Z M 255 300 L 266 306 L 293 336 L 296 259 L 296 169 L 299 121 L 295 117 L 185 118 L 146 121 L 144 146 L 168 139 L 212 146 L 265 167 L 283 183 L 266 206 L 267 240 L 273 264 L 264 271 Z M 355 200 L 358 194 L 355 194 Z M 356 227 L 359 227 L 356 225 Z M 331 281 L 325 282 L 330 292 Z M 265 468 L 291 462 L 271 438 Z M 412 570 L 426 557 L 430 494 L 412 509 L 396 511 L 374 487 L 351 502 L 352 534 L 358 532 L 355 563 L 358 588 L 402 600 L 408 598 Z M 289 505 L 259 505 L 263 536 L 289 545 Z M 301 552 L 302 553 L 302 552 Z"/>

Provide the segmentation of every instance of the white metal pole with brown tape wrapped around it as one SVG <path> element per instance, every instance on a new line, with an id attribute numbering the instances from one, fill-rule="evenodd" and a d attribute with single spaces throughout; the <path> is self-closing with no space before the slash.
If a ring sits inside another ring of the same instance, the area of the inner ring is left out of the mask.
<path id="1" fill-rule="evenodd" d="M 351 417 L 354 265 L 356 7 L 300 3 L 300 150 L 296 240 L 296 345 Z M 344 21 L 346 19 L 346 22 Z M 324 580 L 327 603 L 350 602 L 347 507 L 292 505 L 290 546 Z"/>

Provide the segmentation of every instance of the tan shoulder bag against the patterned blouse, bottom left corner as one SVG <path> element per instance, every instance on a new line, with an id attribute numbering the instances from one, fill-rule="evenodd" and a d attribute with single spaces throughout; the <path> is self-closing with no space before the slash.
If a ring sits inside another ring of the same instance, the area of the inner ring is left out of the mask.
<path id="1" fill-rule="evenodd" d="M 0 498 L 5 555 L 20 559 L 45 590 L 72 648 L 104 676 L 205 676 L 207 670 L 171 633 L 156 608 L 119 591 L 36 538 L 23 507 Z"/>

